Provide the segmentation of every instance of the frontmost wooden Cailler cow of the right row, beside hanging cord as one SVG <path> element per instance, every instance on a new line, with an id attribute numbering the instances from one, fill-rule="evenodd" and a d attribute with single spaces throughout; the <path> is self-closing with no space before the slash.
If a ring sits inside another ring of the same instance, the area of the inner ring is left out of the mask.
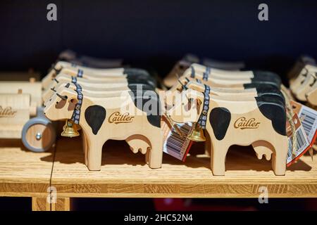
<path id="1" fill-rule="evenodd" d="M 209 96 L 188 89 L 168 110 L 174 122 L 197 122 L 210 136 L 211 169 L 214 175 L 225 174 L 225 156 L 232 145 L 265 143 L 273 151 L 272 167 L 284 175 L 288 141 L 285 106 L 273 97 Z M 189 99 L 193 101 L 189 102 Z"/>

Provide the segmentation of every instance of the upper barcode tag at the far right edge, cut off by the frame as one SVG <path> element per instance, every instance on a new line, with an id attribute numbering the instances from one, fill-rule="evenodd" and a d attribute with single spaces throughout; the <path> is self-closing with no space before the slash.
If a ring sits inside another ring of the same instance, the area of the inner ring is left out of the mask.
<path id="1" fill-rule="evenodd" d="M 298 115 L 302 120 L 309 143 L 312 143 L 317 129 L 317 111 L 302 105 Z"/>

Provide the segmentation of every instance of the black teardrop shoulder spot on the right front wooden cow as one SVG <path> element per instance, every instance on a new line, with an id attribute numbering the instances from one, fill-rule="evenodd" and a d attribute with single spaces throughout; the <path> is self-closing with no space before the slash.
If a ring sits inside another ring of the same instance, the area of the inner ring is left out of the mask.
<path id="1" fill-rule="evenodd" d="M 231 120 L 231 113 L 228 108 L 218 107 L 213 108 L 209 115 L 209 122 L 213 128 L 217 140 L 222 140 L 227 133 Z"/>

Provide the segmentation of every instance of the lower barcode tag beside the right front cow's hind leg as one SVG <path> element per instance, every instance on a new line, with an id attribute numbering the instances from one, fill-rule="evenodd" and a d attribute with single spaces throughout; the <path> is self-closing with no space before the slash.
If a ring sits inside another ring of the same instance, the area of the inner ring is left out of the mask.
<path id="1" fill-rule="evenodd" d="M 306 132 L 302 125 L 297 128 L 295 135 L 297 138 L 297 146 L 295 148 L 294 155 L 292 154 L 292 136 L 289 136 L 288 138 L 287 166 L 304 154 L 305 150 L 309 149 L 309 140 L 307 139 Z"/>

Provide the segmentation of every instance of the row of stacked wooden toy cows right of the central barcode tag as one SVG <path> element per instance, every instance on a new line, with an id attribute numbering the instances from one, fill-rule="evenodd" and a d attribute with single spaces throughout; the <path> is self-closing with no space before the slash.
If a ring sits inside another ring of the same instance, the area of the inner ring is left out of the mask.
<path id="1" fill-rule="evenodd" d="M 214 175 L 225 174 L 225 155 L 232 145 L 252 145 L 259 159 L 272 158 L 273 171 L 283 175 L 288 141 L 280 85 L 272 72 L 226 71 L 194 63 L 166 95 L 167 114 L 174 122 L 192 122 L 196 134 L 204 130 Z"/>

